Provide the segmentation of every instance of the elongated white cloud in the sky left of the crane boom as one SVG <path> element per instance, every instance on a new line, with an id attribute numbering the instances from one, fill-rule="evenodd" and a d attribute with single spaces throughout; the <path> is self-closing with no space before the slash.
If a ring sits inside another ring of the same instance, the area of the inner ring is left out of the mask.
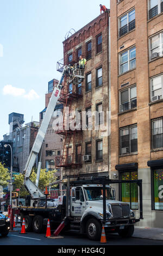
<path id="1" fill-rule="evenodd" d="M 4 95 L 12 95 L 14 97 L 22 96 L 27 100 L 35 100 L 39 98 L 39 95 L 35 92 L 35 90 L 30 90 L 29 93 L 26 93 L 26 90 L 22 88 L 16 88 L 11 86 L 11 84 L 7 84 L 7 86 L 3 87 Z"/>

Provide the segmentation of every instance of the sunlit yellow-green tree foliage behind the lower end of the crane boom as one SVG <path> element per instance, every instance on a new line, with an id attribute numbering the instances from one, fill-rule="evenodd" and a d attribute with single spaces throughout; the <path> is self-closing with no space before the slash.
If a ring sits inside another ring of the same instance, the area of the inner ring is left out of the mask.
<path id="1" fill-rule="evenodd" d="M 56 170 L 46 172 L 46 169 L 41 169 L 40 171 L 40 179 L 39 179 L 39 188 L 41 191 L 44 191 L 46 186 L 49 186 L 50 183 L 54 182 L 57 180 L 57 176 L 55 175 Z M 24 187 L 24 175 L 19 174 L 19 175 L 14 175 L 14 190 L 16 188 L 20 188 L 20 196 L 24 197 L 29 194 Z M 34 183 L 36 181 L 36 170 L 33 170 L 32 174 L 30 175 L 30 180 L 32 180 Z M 53 185 L 55 187 L 57 185 Z"/>

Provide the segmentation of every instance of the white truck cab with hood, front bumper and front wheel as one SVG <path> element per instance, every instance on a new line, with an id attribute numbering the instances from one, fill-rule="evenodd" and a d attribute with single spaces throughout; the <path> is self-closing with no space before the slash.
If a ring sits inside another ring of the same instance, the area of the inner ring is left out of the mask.
<path id="1" fill-rule="evenodd" d="M 129 203 L 115 200 L 115 190 L 109 185 L 105 188 L 106 220 L 103 220 L 103 185 L 85 184 L 71 188 L 70 216 L 73 229 L 80 227 L 89 239 L 99 240 L 102 224 L 107 233 L 118 233 L 130 237 L 136 222 Z M 137 220 L 138 221 L 138 220 Z"/>

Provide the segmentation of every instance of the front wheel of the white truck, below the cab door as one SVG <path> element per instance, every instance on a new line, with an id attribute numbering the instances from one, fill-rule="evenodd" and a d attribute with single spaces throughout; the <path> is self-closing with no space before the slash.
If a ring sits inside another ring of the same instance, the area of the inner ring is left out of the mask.
<path id="1" fill-rule="evenodd" d="M 100 240 L 102 224 L 96 218 L 90 218 L 86 223 L 86 235 L 90 240 Z"/>

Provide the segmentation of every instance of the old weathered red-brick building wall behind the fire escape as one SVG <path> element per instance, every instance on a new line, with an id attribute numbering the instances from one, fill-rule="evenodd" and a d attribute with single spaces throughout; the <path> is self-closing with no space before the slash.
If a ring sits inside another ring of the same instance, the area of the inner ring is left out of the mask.
<path id="1" fill-rule="evenodd" d="M 91 114 L 95 111 L 109 111 L 108 41 L 109 13 L 105 12 L 63 42 L 65 65 L 77 63 L 81 54 L 87 60 L 85 79 L 78 89 L 78 95 L 72 99 L 72 84 L 67 85 L 68 90 L 65 94 L 68 101 L 65 100 L 64 109 L 70 107 L 69 114 L 72 119 L 73 111 L 79 112 L 81 121 L 85 119 L 86 129 L 84 130 L 83 125 L 77 132 L 71 129 L 65 134 L 59 132 L 66 137 L 62 146 L 62 157 L 65 162 L 60 163 L 64 177 L 109 175 L 109 137 L 103 136 L 105 129 L 100 127 L 99 130 L 95 130 L 97 124 Z M 84 112 L 87 117 L 83 116 Z M 106 117 L 99 117 L 98 124 L 100 123 L 106 125 Z"/>

